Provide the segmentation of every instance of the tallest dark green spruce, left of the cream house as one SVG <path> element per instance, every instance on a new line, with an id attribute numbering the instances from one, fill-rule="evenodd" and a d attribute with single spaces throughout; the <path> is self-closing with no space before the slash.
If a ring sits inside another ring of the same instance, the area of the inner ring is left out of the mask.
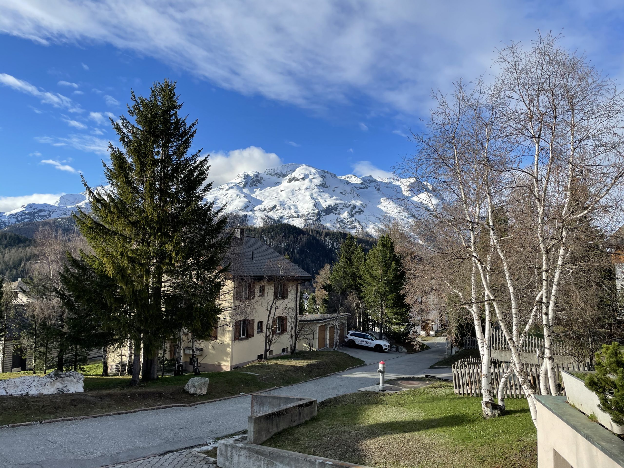
<path id="1" fill-rule="evenodd" d="M 132 92 L 131 99 L 134 122 L 111 119 L 121 147 L 109 145 L 109 187 L 94 189 L 83 179 L 92 212 L 79 211 L 76 223 L 92 250 L 82 259 L 119 288 L 123 305 L 115 306 L 134 341 L 137 384 L 141 343 L 142 378 L 151 380 L 162 338 L 182 328 L 197 339 L 210 334 L 229 236 L 223 208 L 203 202 L 210 166 L 202 150 L 190 154 L 197 120 L 178 115 L 175 82 L 155 83 L 149 97 Z"/>

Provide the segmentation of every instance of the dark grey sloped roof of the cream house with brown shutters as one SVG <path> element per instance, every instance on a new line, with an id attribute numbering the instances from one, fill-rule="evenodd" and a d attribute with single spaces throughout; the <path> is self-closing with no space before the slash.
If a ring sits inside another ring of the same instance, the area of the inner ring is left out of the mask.
<path id="1" fill-rule="evenodd" d="M 259 278 L 290 278 L 309 281 L 310 273 L 301 270 L 285 256 L 266 245 L 254 236 L 244 233 L 244 228 L 236 228 L 227 261 L 232 276 Z"/>

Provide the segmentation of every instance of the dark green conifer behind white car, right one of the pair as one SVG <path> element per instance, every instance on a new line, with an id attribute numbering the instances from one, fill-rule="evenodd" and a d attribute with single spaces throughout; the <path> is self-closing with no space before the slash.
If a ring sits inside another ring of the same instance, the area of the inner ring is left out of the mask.
<path id="1" fill-rule="evenodd" d="M 364 301 L 374 311 L 380 333 L 404 324 L 407 305 L 401 290 L 405 278 L 401 258 L 394 251 L 390 236 L 381 236 L 368 252 L 361 267 L 361 278 Z"/>

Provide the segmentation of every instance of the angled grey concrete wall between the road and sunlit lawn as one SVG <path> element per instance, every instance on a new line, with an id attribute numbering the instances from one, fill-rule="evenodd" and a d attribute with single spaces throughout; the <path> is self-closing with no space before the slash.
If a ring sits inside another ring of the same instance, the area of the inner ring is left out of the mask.
<path id="1" fill-rule="evenodd" d="M 316 416 L 316 400 L 294 396 L 252 395 L 247 440 L 261 444 L 288 427 Z"/>

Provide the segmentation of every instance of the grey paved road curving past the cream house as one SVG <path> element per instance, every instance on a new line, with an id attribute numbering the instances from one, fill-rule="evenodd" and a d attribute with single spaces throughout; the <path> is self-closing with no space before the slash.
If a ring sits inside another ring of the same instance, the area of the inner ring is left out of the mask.
<path id="1" fill-rule="evenodd" d="M 444 343 L 427 344 L 432 349 L 417 354 L 345 349 L 371 364 L 270 393 L 323 401 L 355 392 L 378 381 L 379 358 L 386 361 L 388 379 L 434 374 L 436 369 L 427 368 L 446 356 L 446 348 Z M 251 397 L 241 396 L 193 407 L 0 429 L 0 467 L 100 467 L 198 446 L 246 429 L 250 407 Z"/>

